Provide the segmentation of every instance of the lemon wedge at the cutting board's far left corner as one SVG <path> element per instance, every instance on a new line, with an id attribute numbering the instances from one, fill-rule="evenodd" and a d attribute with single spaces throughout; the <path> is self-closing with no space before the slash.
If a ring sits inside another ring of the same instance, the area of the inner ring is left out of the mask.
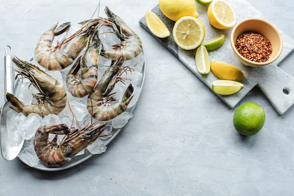
<path id="1" fill-rule="evenodd" d="M 145 21 L 153 35 L 159 38 L 166 38 L 171 34 L 163 21 L 150 10 L 147 10 L 145 13 Z"/>

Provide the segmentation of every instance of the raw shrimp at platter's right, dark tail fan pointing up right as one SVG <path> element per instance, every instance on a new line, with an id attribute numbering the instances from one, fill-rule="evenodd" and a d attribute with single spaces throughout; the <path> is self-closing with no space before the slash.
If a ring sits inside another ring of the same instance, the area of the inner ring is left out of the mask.
<path id="1" fill-rule="evenodd" d="M 122 101 L 113 105 L 110 104 L 111 101 L 116 100 L 113 97 L 115 93 L 111 93 L 111 91 L 115 84 L 121 81 L 118 74 L 122 70 L 123 59 L 124 57 L 121 55 L 117 60 L 112 60 L 111 66 L 106 69 L 95 89 L 88 96 L 88 112 L 98 121 L 108 121 L 123 113 L 133 98 L 134 88 L 130 84 L 123 94 Z"/>

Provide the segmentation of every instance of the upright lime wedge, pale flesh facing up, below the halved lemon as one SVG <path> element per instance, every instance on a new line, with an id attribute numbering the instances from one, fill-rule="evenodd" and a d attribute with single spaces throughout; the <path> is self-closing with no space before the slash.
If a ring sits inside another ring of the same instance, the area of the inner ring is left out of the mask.
<path id="1" fill-rule="evenodd" d="M 210 72 L 210 58 L 206 48 L 202 44 L 196 50 L 195 60 L 199 73 L 208 74 Z"/>

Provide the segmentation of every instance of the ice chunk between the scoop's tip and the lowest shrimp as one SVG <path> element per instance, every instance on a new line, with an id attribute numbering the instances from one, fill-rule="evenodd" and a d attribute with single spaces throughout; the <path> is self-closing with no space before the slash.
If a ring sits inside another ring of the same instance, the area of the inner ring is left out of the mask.
<path id="1" fill-rule="evenodd" d="M 39 162 L 33 144 L 24 148 L 17 157 L 31 167 L 34 167 Z"/>

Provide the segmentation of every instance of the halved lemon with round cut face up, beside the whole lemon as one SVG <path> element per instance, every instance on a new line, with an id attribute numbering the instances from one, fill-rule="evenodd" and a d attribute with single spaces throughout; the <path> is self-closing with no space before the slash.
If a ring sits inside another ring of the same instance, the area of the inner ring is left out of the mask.
<path id="1" fill-rule="evenodd" d="M 173 27 L 173 39 L 179 47 L 185 50 L 197 48 L 203 42 L 204 37 L 203 23 L 193 16 L 180 18 Z"/>

